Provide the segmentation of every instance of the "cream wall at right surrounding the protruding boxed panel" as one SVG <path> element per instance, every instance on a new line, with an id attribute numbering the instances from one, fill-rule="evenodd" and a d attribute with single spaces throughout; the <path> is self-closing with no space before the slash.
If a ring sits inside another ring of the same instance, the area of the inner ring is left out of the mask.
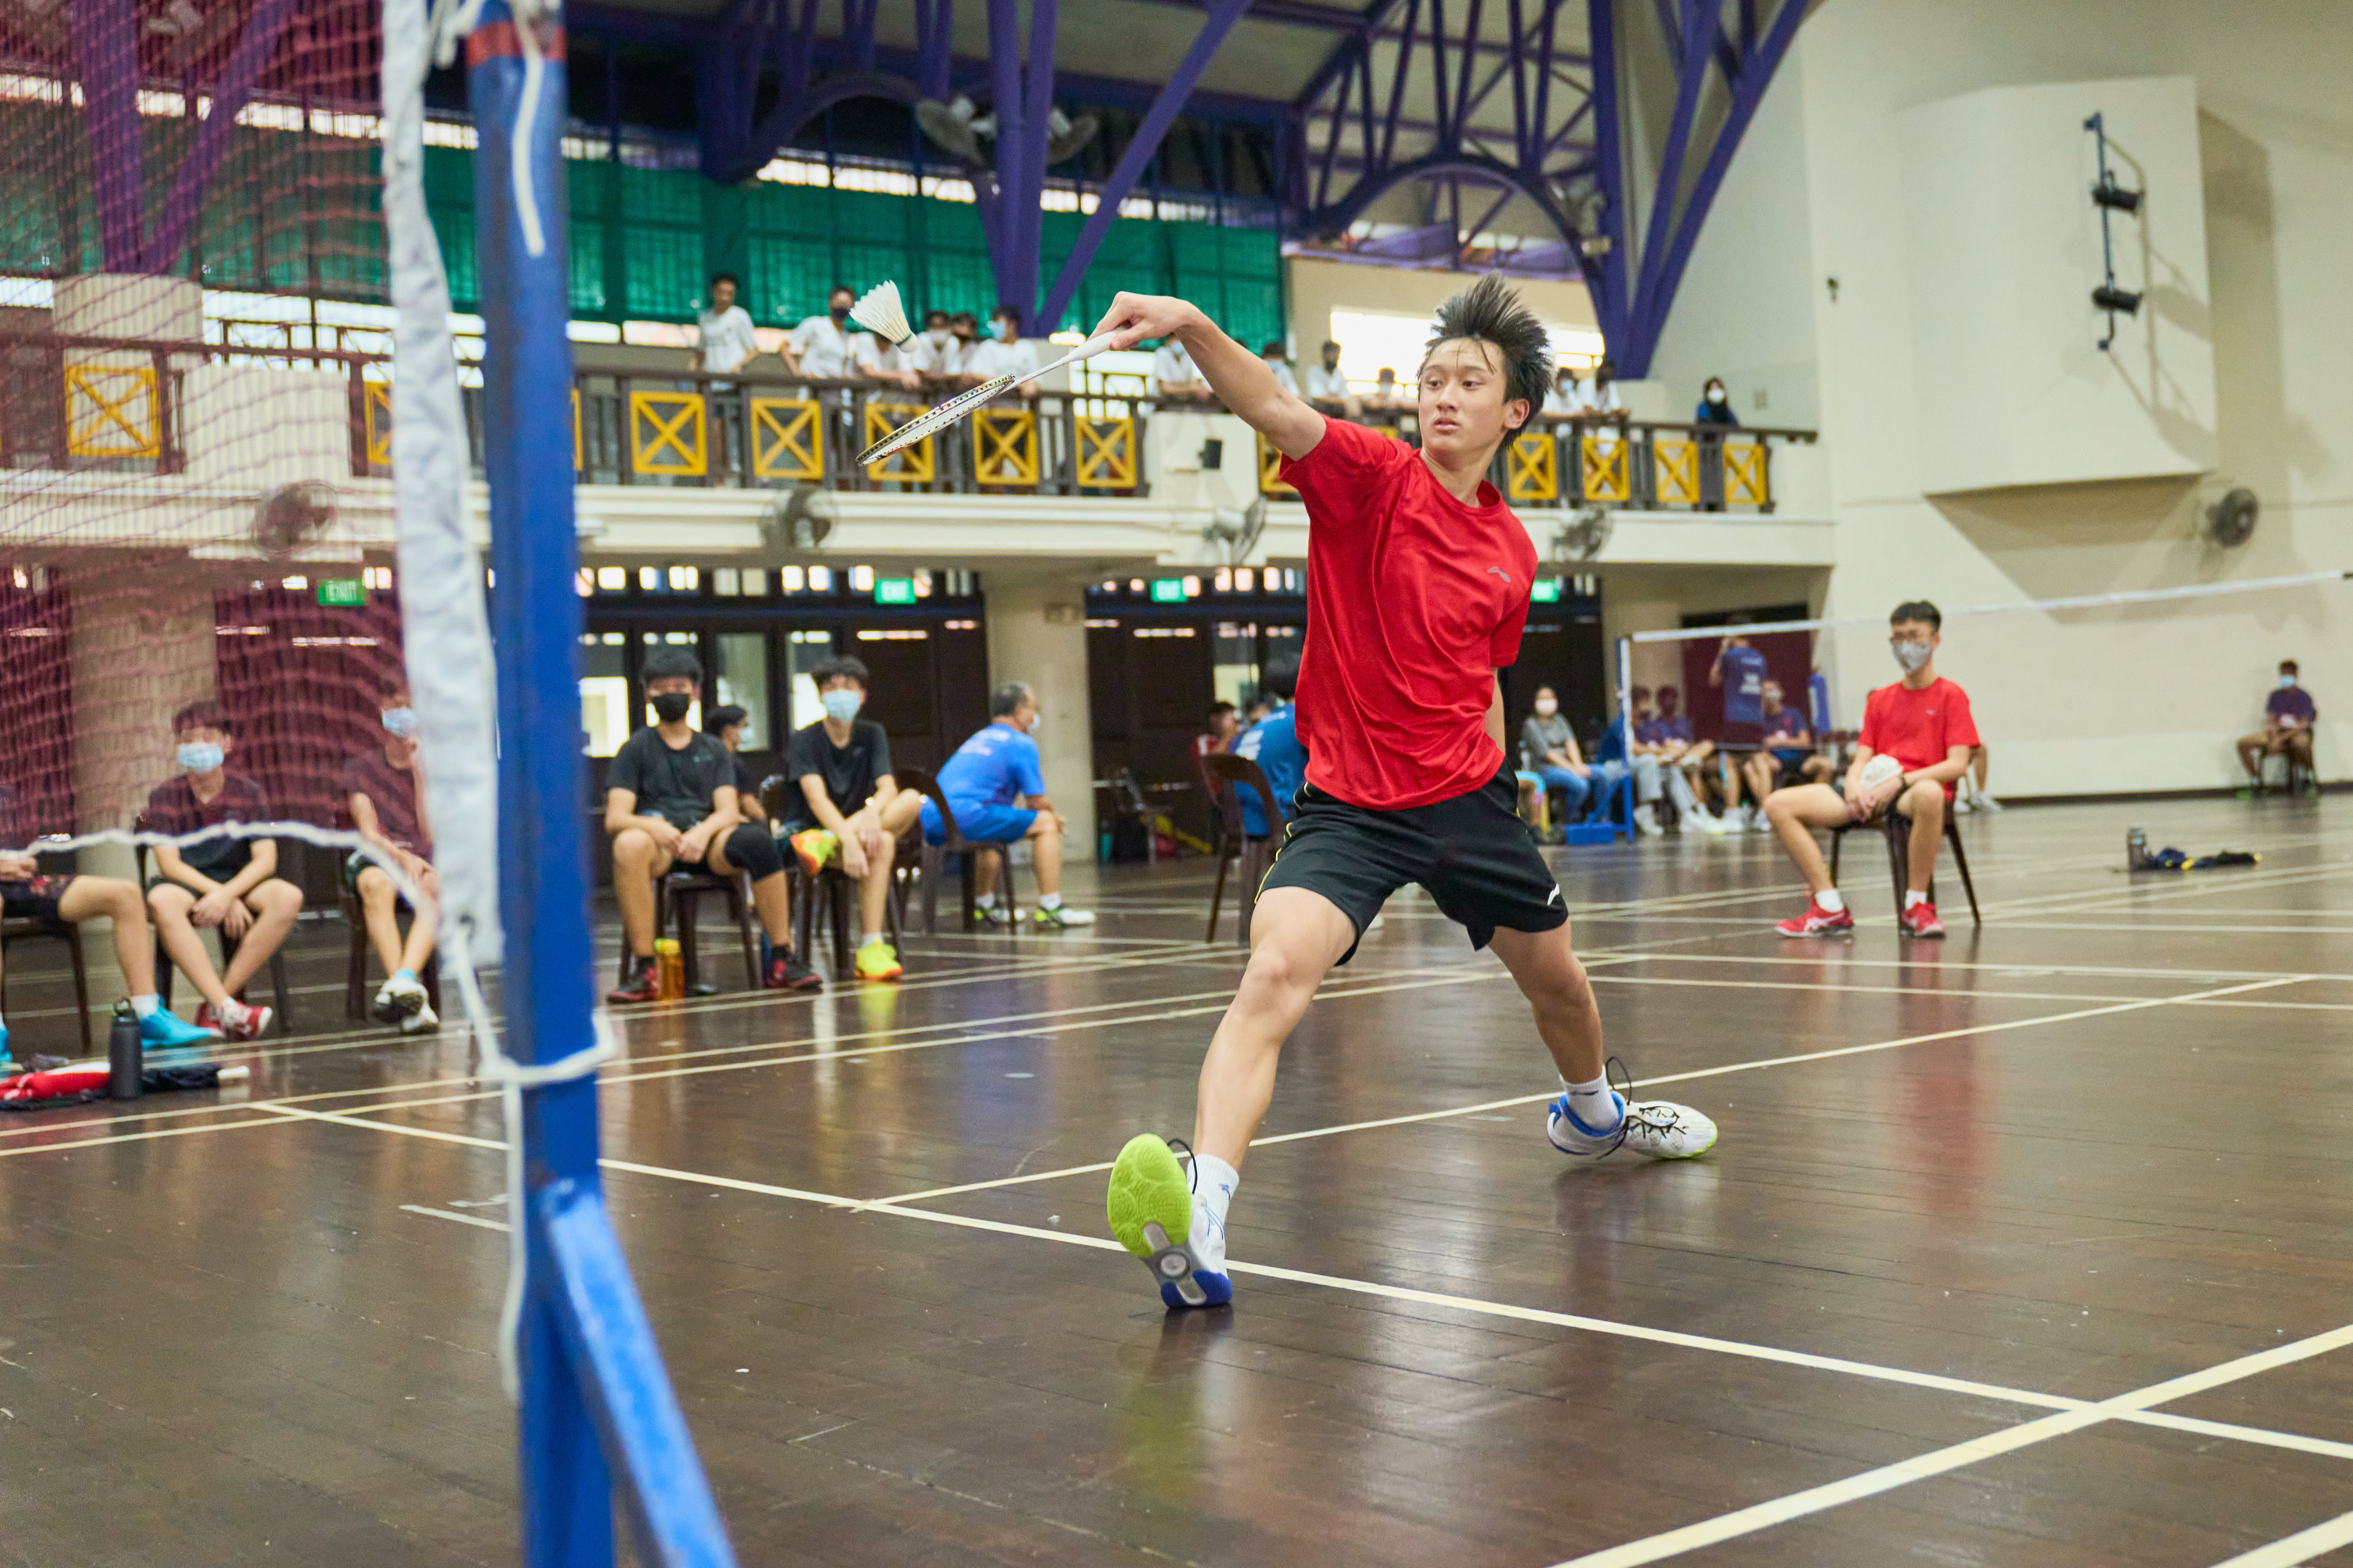
<path id="1" fill-rule="evenodd" d="M 1814 270 L 1840 280 L 1838 301 L 1821 292 L 1814 308 L 1840 520 L 1828 614 L 1880 616 L 1915 595 L 1955 609 L 2353 567 L 2353 404 L 2334 388 L 2353 362 L 2353 94 L 2341 87 L 2353 7 L 1840 0 L 1807 19 L 1795 54 L 1809 249 Z M 2214 475 L 1929 498 L 1904 115 L 1991 87 L 2118 75 L 2195 82 Z M 2261 494 L 2264 522 L 2254 543 L 2224 552 L 2193 524 L 2233 482 Z M 1955 618 L 1939 663 L 1974 696 L 1995 792 L 2214 788 L 2235 776 L 2231 738 L 2259 722 L 2278 658 L 2304 661 L 2322 715 L 2353 703 L 2348 611 L 2348 588 L 2318 588 Z M 1875 625 L 1831 642 L 1852 719 L 1894 663 Z M 2344 726 L 2322 724 L 2320 762 L 2329 776 L 2353 771 Z"/>

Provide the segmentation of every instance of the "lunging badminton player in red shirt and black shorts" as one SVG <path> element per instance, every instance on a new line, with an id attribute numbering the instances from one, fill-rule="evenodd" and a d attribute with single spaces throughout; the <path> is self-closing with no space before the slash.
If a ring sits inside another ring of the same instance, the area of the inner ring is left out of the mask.
<path id="1" fill-rule="evenodd" d="M 1226 1206 L 1275 1091 L 1275 1058 L 1315 985 L 1407 882 L 1494 945 L 1560 1067 L 1551 1140 L 1687 1159 L 1715 1143 L 1694 1110 L 1628 1103 L 1607 1081 L 1602 1020 L 1569 950 L 1560 884 L 1515 804 L 1497 670 L 1520 656 L 1537 574 L 1527 529 L 1485 475 L 1541 407 L 1553 348 L 1501 277 L 1438 308 L 1419 374 L 1421 449 L 1318 414 L 1181 299 L 1120 294 L 1113 348 L 1184 343 L 1224 404 L 1282 451 L 1308 508 L 1308 639 L 1299 661 L 1306 783 L 1252 917 L 1249 966 L 1200 1067 L 1193 1175 L 1162 1138 L 1111 1173 L 1111 1229 L 1169 1307 L 1221 1305 Z"/>

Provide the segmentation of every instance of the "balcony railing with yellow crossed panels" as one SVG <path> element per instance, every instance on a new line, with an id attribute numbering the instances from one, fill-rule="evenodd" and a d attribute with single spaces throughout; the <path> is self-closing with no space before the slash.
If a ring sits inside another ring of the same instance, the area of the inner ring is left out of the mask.
<path id="1" fill-rule="evenodd" d="M 301 339 L 308 334 L 287 331 L 275 343 L 0 336 L 0 465 L 181 473 L 188 371 L 240 362 L 339 376 L 348 388 L 351 473 L 388 475 L 388 357 L 358 353 L 341 336 L 336 348 Z M 1144 496 L 1153 409 L 1224 414 L 1205 397 L 1002 397 L 882 463 L 856 463 L 859 451 L 953 390 L 762 371 L 584 369 L 572 378 L 572 465 L 584 484 Z M 480 473 L 480 388 L 464 388 L 464 400 Z M 1362 421 L 1402 440 L 1417 435 L 1409 407 L 1365 409 Z M 1812 430 L 1541 414 L 1504 444 L 1489 477 L 1518 508 L 1769 512 L 1774 449 L 1812 440 Z M 1264 437 L 1257 480 L 1261 494 L 1294 494 Z"/>

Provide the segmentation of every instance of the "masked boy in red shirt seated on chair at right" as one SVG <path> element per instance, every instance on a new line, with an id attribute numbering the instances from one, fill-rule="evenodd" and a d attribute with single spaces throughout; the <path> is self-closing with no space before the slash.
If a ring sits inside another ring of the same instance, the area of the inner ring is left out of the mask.
<path id="1" fill-rule="evenodd" d="M 1854 914 L 1831 886 L 1831 867 L 1821 863 L 1814 827 L 1875 823 L 1889 811 L 1911 820 L 1911 884 L 1897 926 L 1904 936 L 1944 936 L 1937 905 L 1927 900 L 1927 884 L 1937 875 L 1953 780 L 1969 771 L 1977 719 L 1969 717 L 1969 693 L 1937 675 L 1941 625 L 1944 616 L 1927 599 L 1897 604 L 1887 616 L 1887 644 L 1904 665 L 1904 679 L 1880 686 L 1864 703 L 1864 733 L 1847 766 L 1845 799 L 1819 783 L 1774 790 L 1765 799 L 1765 820 L 1798 863 L 1805 886 L 1814 891 L 1805 914 L 1781 922 L 1781 936 L 1854 931 Z M 1897 766 L 1889 769 L 1889 762 Z"/>

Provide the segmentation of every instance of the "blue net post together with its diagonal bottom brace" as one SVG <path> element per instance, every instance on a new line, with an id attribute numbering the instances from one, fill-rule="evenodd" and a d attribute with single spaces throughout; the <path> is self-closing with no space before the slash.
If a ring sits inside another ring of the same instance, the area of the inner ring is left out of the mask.
<path id="1" fill-rule="evenodd" d="M 527 38 L 522 28 L 534 26 L 541 31 Z M 529 1065 L 588 1046 L 595 994 L 588 856 L 567 827 L 579 823 L 588 776 L 574 668 L 581 609 L 572 588 L 562 33 L 529 19 L 518 28 L 506 0 L 489 0 L 466 40 L 466 66 L 480 132 L 475 254 L 489 339 L 482 423 L 506 738 L 506 1048 Z M 711 1483 L 605 1211 L 595 1077 L 532 1086 L 522 1110 L 522 1561 L 609 1568 L 619 1474 L 642 1561 L 732 1568 Z"/>

